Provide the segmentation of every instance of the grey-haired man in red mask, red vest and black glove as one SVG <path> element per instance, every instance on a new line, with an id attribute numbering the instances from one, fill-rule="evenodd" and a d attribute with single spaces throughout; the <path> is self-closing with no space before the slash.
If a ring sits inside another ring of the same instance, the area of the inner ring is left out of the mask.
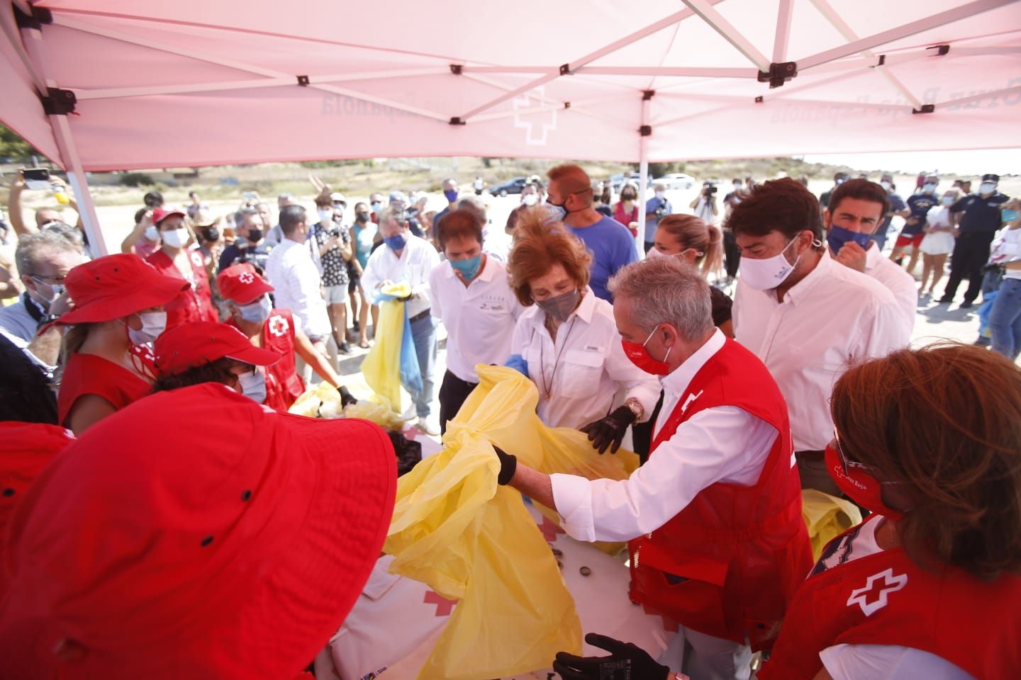
<path id="1" fill-rule="evenodd" d="M 681 624 L 662 658 L 673 670 L 748 678 L 812 564 L 786 406 L 763 363 L 713 326 L 693 267 L 645 260 L 611 289 L 628 358 L 664 376 L 648 462 L 623 481 L 588 480 L 497 449 L 498 482 L 554 508 L 575 538 L 633 539 L 632 599 Z"/>

